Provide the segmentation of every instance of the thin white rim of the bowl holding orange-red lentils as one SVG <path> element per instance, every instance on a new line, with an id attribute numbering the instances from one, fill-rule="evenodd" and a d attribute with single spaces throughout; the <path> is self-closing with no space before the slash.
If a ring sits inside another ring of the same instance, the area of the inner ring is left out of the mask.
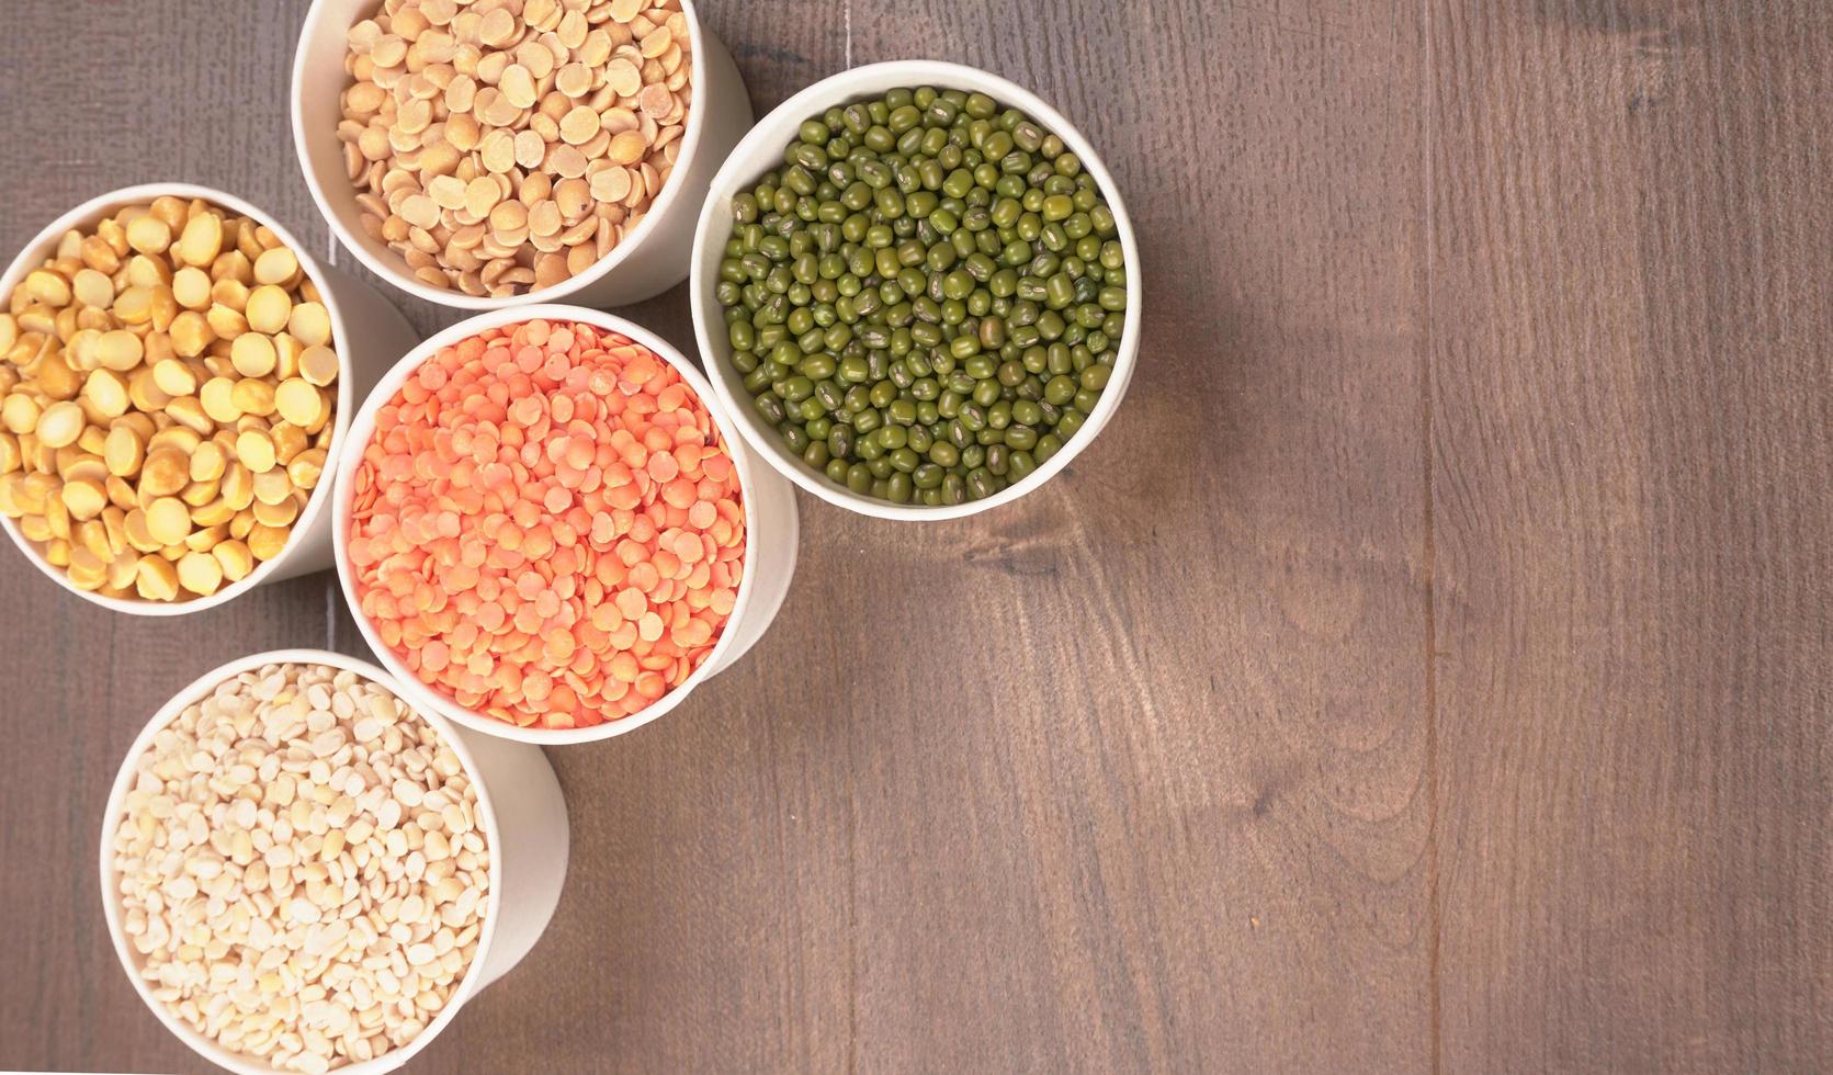
<path id="1" fill-rule="evenodd" d="M 522 728 L 519 725 L 510 725 L 495 717 L 471 712 L 460 706 L 455 699 L 433 690 L 411 668 L 401 664 L 394 651 L 381 640 L 376 633 L 374 624 L 363 615 L 363 604 L 357 600 L 356 580 L 350 569 L 350 499 L 356 492 L 354 486 L 337 486 L 339 493 L 332 504 L 332 545 L 337 561 L 337 583 L 343 587 L 345 602 L 350 605 L 350 618 L 356 620 L 357 629 L 368 642 L 370 649 L 376 653 L 378 660 L 394 673 L 394 679 L 401 682 L 407 695 L 416 704 L 416 708 L 436 710 L 445 719 L 464 725 L 475 732 L 484 732 L 486 736 L 499 736 L 504 739 L 517 739 L 522 743 L 539 743 L 543 747 L 566 745 L 566 743 L 596 743 L 599 739 L 609 739 L 612 736 L 621 736 L 625 732 L 634 732 L 643 725 L 662 717 L 675 706 L 678 706 L 697 686 L 700 686 L 711 673 L 708 670 L 719 666 L 720 657 L 731 648 L 735 631 L 733 624 L 742 620 L 744 611 L 752 604 L 755 593 L 755 565 L 763 561 L 763 554 L 757 547 L 759 536 L 752 515 L 752 506 L 755 501 L 755 482 L 752 477 L 752 462 L 744 451 L 744 440 L 733 429 L 733 422 L 720 411 L 719 398 L 713 394 L 706 378 L 698 369 L 682 356 L 667 339 L 662 339 L 649 328 L 618 317 L 616 314 L 607 314 L 603 310 L 588 310 L 585 306 L 566 306 L 557 303 L 543 303 L 535 306 L 510 306 L 504 310 L 489 310 L 458 321 L 456 325 L 427 338 L 420 347 L 407 352 L 401 361 L 394 365 L 370 391 L 368 400 L 350 420 L 350 435 L 345 440 L 345 451 L 337 455 L 337 481 L 354 481 L 357 462 L 363 459 L 363 451 L 368 448 L 370 438 L 376 435 L 376 411 L 379 411 L 394 394 L 407 383 L 422 363 L 434 356 L 442 347 L 451 347 L 486 328 L 502 328 L 504 325 L 521 325 L 524 321 L 579 321 L 599 330 L 616 332 L 629 338 L 634 343 L 647 347 L 658 358 L 675 367 L 682 374 L 682 380 L 700 396 L 700 404 L 708 409 L 713 418 L 713 426 L 719 435 L 726 440 L 726 451 L 731 455 L 733 468 L 739 473 L 739 495 L 744 501 L 746 526 L 744 526 L 744 572 L 739 578 L 739 596 L 731 605 L 731 615 L 726 616 L 726 626 L 720 629 L 719 642 L 713 644 L 713 651 L 706 655 L 698 668 L 695 668 L 680 686 L 669 690 L 660 699 L 649 703 L 649 706 L 614 721 L 605 721 L 587 728 Z M 799 526 L 790 528 L 788 539 L 797 538 Z"/>

